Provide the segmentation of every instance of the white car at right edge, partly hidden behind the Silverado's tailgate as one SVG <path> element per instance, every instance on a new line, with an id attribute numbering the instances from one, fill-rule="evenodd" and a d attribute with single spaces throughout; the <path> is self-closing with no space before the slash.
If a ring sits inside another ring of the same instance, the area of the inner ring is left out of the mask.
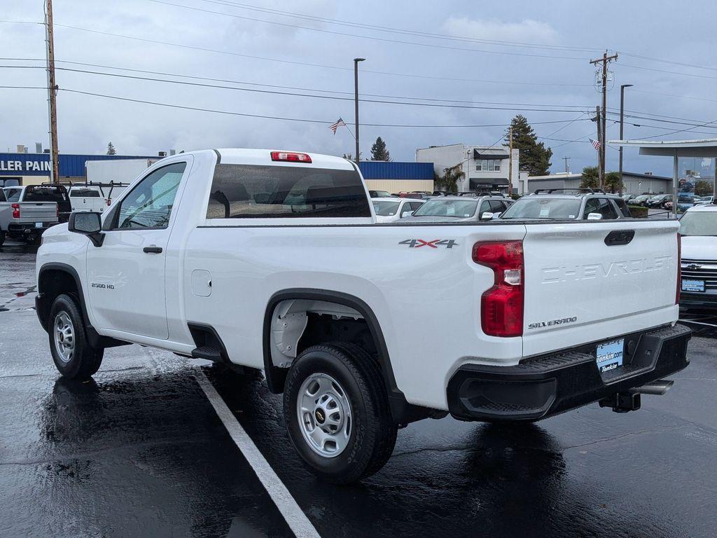
<path id="1" fill-rule="evenodd" d="M 717 206 L 698 204 L 680 218 L 680 306 L 717 308 Z"/>

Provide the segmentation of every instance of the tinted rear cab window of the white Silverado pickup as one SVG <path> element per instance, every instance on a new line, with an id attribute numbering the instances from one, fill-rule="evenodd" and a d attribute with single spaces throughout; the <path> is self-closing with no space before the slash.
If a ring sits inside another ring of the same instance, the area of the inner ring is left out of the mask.
<path id="1" fill-rule="evenodd" d="M 217 164 L 207 219 L 371 217 L 356 169 Z"/>

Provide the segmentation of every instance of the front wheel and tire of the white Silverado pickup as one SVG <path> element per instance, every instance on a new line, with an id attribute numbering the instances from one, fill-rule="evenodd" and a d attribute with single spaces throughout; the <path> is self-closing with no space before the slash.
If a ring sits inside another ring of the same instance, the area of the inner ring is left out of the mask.
<path id="1" fill-rule="evenodd" d="M 69 295 L 55 298 L 50 308 L 47 334 L 58 372 L 69 379 L 87 379 L 100 369 L 103 348 L 90 346 L 77 301 Z"/>

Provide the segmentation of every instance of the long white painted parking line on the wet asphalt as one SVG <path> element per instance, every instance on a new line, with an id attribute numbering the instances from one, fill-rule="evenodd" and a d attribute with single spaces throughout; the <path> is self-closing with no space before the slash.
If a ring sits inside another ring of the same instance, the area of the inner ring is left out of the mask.
<path id="1" fill-rule="evenodd" d="M 196 368 L 196 381 L 199 383 L 201 390 L 204 390 L 204 394 L 209 399 L 209 402 L 214 407 L 214 410 L 219 415 L 219 420 L 222 420 L 224 428 L 227 428 L 229 435 L 234 440 L 234 443 L 239 447 L 239 450 L 244 454 L 244 458 L 247 458 L 250 466 L 257 473 L 257 477 L 261 481 L 262 485 L 267 490 L 267 493 L 276 504 L 277 508 L 284 516 L 285 521 L 289 525 L 290 529 L 298 537 L 319 537 L 320 535 L 316 531 L 315 527 L 306 517 L 303 510 L 296 504 L 293 496 L 286 489 L 284 483 L 279 479 L 274 470 L 266 461 L 257 445 L 254 444 L 249 434 L 239 424 L 237 418 L 227 404 L 224 403 L 222 397 L 219 396 L 219 392 L 214 388 L 214 385 L 209 382 L 204 372 L 200 368 Z"/>

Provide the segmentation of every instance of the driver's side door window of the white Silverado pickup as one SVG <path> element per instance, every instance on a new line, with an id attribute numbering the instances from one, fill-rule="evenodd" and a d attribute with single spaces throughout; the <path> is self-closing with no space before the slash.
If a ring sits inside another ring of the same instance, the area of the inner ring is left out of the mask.
<path id="1" fill-rule="evenodd" d="M 113 230 L 166 228 L 186 163 L 153 171 L 120 202 Z"/>

